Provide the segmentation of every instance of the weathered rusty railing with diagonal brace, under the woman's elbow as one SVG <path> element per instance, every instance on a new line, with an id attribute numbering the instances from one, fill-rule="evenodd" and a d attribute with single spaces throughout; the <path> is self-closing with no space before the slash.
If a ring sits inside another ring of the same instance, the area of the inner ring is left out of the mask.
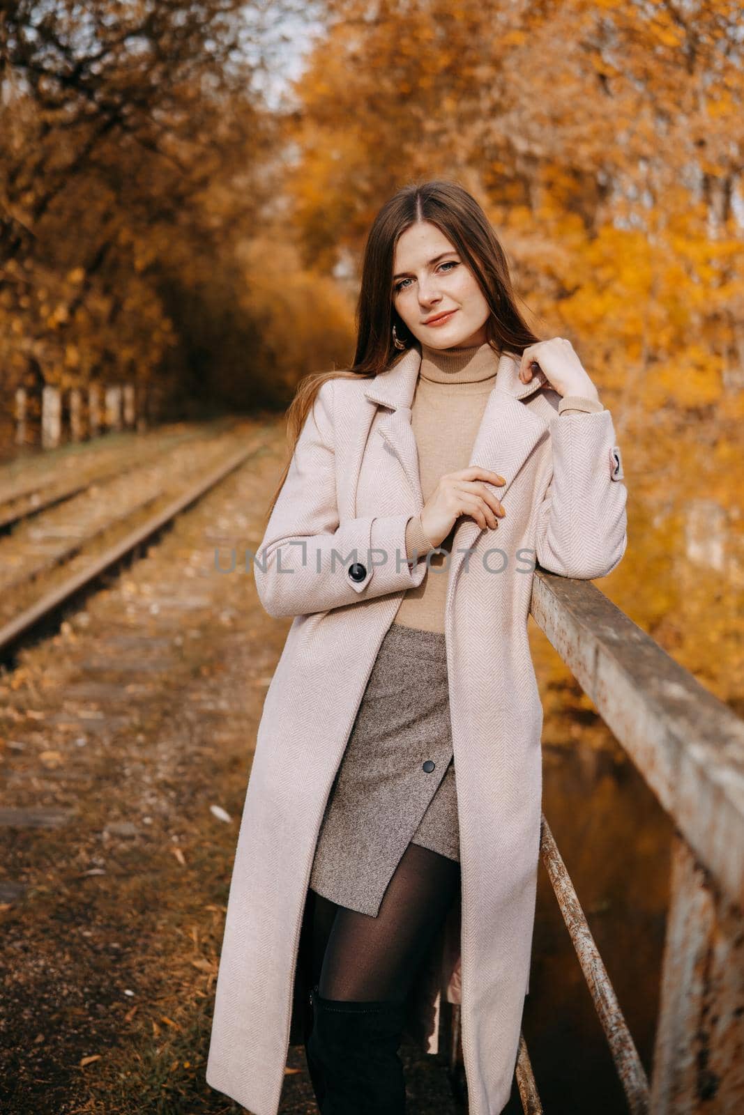
<path id="1" fill-rule="evenodd" d="M 542 862 L 628 1109 L 634 1115 L 744 1112 L 744 720 L 591 582 L 538 569 L 531 613 L 675 826 L 649 1084 L 542 818 Z M 450 1048 L 454 1070 L 454 1041 Z M 542 1112 L 523 1035 L 515 1075 L 524 1112 Z"/>

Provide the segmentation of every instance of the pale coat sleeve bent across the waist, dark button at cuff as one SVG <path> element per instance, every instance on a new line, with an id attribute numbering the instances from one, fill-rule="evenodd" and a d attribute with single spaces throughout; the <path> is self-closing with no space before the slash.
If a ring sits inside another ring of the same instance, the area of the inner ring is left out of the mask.
<path id="1" fill-rule="evenodd" d="M 307 615 L 417 586 L 426 565 L 407 558 L 410 517 L 407 511 L 339 522 L 334 380 L 326 380 L 253 558 L 263 608 L 274 617 Z"/>

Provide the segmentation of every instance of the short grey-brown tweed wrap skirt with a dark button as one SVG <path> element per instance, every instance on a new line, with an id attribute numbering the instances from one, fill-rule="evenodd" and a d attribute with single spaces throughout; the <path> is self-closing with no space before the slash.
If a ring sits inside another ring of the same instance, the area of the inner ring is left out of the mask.
<path id="1" fill-rule="evenodd" d="M 328 797 L 309 886 L 377 917 L 409 842 L 460 861 L 445 637 L 393 623 Z"/>

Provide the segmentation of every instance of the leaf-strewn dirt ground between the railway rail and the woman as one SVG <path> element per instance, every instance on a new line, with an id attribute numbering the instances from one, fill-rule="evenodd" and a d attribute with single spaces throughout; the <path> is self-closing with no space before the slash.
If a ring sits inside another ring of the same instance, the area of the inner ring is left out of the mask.
<path id="1" fill-rule="evenodd" d="M 251 749 L 289 626 L 242 563 L 283 452 L 277 425 L 0 675 L 1 805 L 16 811 L 0 812 L 4 1115 L 242 1111 L 204 1065 Z M 235 571 L 219 572 L 232 547 Z M 455 1112 L 442 1060 L 404 1053 L 412 1115 Z M 317 1112 L 299 1047 L 281 1112 Z"/>

